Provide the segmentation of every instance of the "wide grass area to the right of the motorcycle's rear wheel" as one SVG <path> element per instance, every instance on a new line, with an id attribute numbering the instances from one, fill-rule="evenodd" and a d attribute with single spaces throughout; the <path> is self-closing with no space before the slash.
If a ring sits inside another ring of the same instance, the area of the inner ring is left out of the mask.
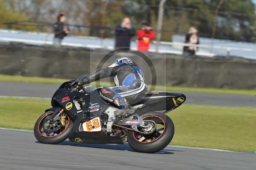
<path id="1" fill-rule="evenodd" d="M 256 151 L 256 108 L 183 105 L 169 112 L 173 145 Z"/>

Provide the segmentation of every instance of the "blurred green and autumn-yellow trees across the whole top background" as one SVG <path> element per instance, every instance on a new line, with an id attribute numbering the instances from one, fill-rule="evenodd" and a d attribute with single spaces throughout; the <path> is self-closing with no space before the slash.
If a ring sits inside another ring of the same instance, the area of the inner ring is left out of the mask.
<path id="1" fill-rule="evenodd" d="M 198 28 L 204 37 L 212 37 L 215 9 L 220 0 L 167 0 L 163 21 L 162 40 L 172 40 L 173 34 L 185 34 L 190 26 Z M 32 20 L 55 22 L 58 13 L 64 13 L 67 23 L 102 26 L 103 0 L 0 0 L 1 18 L 4 20 Z M 133 26 L 140 29 L 143 21 L 156 28 L 160 0 L 105 0 L 105 26 L 114 28 L 125 16 L 131 17 Z M 217 18 L 216 38 L 252 41 L 256 36 L 255 4 L 252 0 L 224 0 Z M 2 17 L 3 15 L 3 17 Z M 5 27 L 5 25 L 0 25 Z M 13 25 L 15 29 L 24 26 Z M 52 32 L 49 26 L 31 27 Z M 28 28 L 27 28 L 28 29 Z M 72 34 L 100 36 L 101 30 L 70 28 Z M 113 29 L 105 31 L 105 37 L 113 36 Z"/>

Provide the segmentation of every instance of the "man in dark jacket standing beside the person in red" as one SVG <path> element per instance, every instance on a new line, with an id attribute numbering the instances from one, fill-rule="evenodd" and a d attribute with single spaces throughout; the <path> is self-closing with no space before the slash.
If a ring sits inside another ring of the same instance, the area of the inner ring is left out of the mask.
<path id="1" fill-rule="evenodd" d="M 125 17 L 115 29 L 116 42 L 115 49 L 125 48 L 130 50 L 131 37 L 136 34 L 136 30 L 131 26 L 131 20 L 128 17 Z"/>

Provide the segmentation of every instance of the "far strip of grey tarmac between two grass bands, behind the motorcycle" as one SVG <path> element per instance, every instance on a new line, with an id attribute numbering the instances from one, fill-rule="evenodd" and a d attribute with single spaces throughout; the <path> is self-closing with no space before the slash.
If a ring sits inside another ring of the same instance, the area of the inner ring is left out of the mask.
<path id="1" fill-rule="evenodd" d="M 0 95 L 51 98 L 58 85 L 0 82 Z M 222 95 L 210 93 L 181 92 L 186 95 L 186 104 L 256 107 L 256 97 L 247 95 Z"/>

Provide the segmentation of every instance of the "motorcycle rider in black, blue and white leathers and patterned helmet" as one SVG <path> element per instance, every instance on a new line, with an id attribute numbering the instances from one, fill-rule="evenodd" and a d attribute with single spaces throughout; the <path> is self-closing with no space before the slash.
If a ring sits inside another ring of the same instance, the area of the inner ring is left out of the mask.
<path id="1" fill-rule="evenodd" d="M 133 113 L 134 110 L 130 108 L 128 101 L 133 100 L 140 93 L 148 92 L 148 87 L 144 82 L 142 71 L 129 57 L 118 58 L 111 66 L 97 69 L 85 78 L 77 79 L 73 84 L 89 84 L 101 78 L 111 76 L 116 86 L 103 87 L 100 91 L 101 97 L 119 107 L 120 110 L 115 112 L 116 115 Z"/>

